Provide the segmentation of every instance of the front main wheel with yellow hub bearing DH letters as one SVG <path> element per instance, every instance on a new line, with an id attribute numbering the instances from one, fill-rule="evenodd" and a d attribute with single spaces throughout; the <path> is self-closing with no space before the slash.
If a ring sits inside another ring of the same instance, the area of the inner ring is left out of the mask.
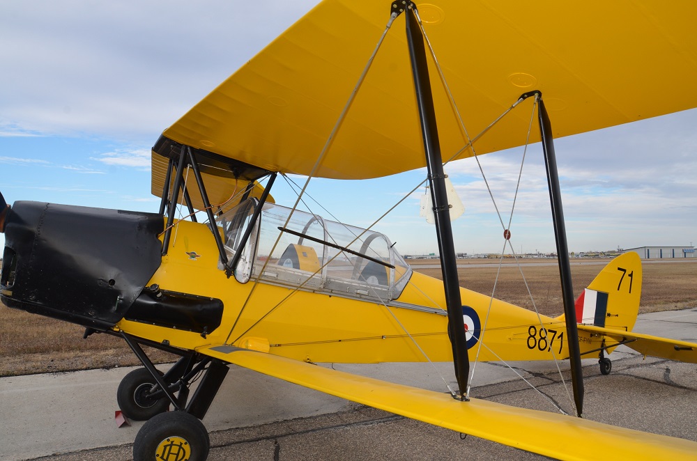
<path id="1" fill-rule="evenodd" d="M 138 431 L 133 461 L 204 461 L 210 440 L 203 423 L 187 412 L 153 416 Z"/>

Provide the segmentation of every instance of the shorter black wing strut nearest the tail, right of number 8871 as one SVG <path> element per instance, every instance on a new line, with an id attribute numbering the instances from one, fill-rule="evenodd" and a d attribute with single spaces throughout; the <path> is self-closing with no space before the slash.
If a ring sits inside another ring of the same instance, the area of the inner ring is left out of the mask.
<path id="1" fill-rule="evenodd" d="M 567 244 L 566 226 L 564 224 L 564 210 L 562 208 L 562 195 L 559 187 L 559 175 L 557 160 L 554 154 L 554 140 L 552 125 L 547 115 L 547 110 L 542 102 L 542 93 L 533 91 L 521 95 L 537 98 L 537 118 L 539 120 L 539 133 L 542 136 L 542 152 L 544 153 L 544 165 L 547 171 L 547 184 L 549 185 L 549 203 L 552 208 L 552 221 L 554 225 L 554 239 L 557 245 L 557 257 L 559 261 L 559 277 L 562 283 L 562 299 L 564 300 L 564 316 L 567 328 L 567 341 L 569 343 L 569 361 L 571 362 L 572 386 L 574 388 L 574 400 L 576 413 L 583 415 L 583 371 L 581 370 L 581 350 L 579 348 L 579 330 L 576 329 L 576 308 L 574 306 L 574 287 L 571 279 L 571 263 L 569 263 L 569 246 Z"/>

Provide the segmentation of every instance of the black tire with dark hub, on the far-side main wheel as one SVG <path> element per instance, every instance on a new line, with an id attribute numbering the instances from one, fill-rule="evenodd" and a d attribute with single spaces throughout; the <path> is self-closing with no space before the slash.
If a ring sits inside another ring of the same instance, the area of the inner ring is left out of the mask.
<path id="1" fill-rule="evenodd" d="M 116 390 L 116 402 L 121 412 L 133 421 L 147 421 L 156 414 L 166 412 L 170 403 L 166 396 L 158 400 L 143 400 L 137 396 L 153 384 L 155 379 L 146 368 L 138 368 L 125 375 Z"/>

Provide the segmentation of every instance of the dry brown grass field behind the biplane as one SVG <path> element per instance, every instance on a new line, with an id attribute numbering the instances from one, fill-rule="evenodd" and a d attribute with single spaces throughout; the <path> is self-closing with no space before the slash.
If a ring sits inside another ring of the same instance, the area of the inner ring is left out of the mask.
<path id="1" fill-rule="evenodd" d="M 542 262 L 556 264 L 555 260 Z M 588 262 L 572 261 L 576 293 L 588 286 L 605 263 L 599 260 L 591 260 L 593 264 Z M 418 272 L 441 278 L 441 269 L 423 267 L 438 265 L 438 260 L 410 260 L 409 263 Z M 498 260 L 459 260 L 458 263 L 464 266 L 459 269 L 461 286 L 485 295 L 492 294 L 499 271 Z M 548 315 L 561 313 L 561 289 L 556 265 L 523 265 L 522 272 L 537 310 Z M 697 260 L 646 263 L 643 274 L 640 312 L 697 306 Z M 502 265 L 496 292 L 493 293 L 498 299 L 533 308 L 521 271 L 511 260 L 505 260 Z M 83 340 L 82 327 L 1 305 L 0 319 L 0 376 L 138 364 L 123 340 L 113 336 L 94 334 Z M 173 359 L 160 351 L 151 350 L 148 353 L 158 362 Z"/>

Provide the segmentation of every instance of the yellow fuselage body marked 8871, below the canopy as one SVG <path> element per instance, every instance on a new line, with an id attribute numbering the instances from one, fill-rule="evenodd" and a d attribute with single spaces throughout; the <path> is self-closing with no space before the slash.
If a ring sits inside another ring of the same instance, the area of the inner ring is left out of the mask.
<path id="1" fill-rule="evenodd" d="M 130 320 L 121 320 L 117 329 L 188 350 L 227 344 L 312 362 L 425 361 L 424 354 L 431 361 L 452 361 L 443 283 L 437 279 L 413 273 L 399 298 L 386 304 L 254 279 L 239 283 L 218 268 L 219 253 L 207 226 L 180 221 L 176 227 L 148 285 L 221 299 L 220 327 L 205 338 Z M 198 256 L 192 258 L 192 252 Z M 464 288 L 461 299 L 484 330 L 483 335 L 477 331 L 483 347 L 469 341 L 470 359 L 477 349 L 482 361 L 568 357 L 563 318 L 538 317 Z M 581 335 L 581 342 L 585 350 L 597 347 L 590 337 Z"/>

